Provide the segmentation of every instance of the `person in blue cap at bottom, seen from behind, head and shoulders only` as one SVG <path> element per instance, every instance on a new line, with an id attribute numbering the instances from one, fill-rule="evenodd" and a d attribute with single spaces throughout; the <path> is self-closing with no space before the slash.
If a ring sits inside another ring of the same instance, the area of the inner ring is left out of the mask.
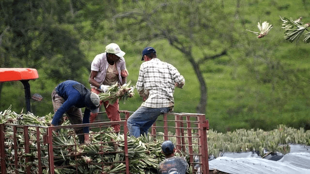
<path id="1" fill-rule="evenodd" d="M 165 160 L 158 164 L 158 174 L 185 174 L 188 169 L 188 163 L 184 157 L 175 156 L 175 148 L 171 141 L 165 141 L 161 145 Z"/>

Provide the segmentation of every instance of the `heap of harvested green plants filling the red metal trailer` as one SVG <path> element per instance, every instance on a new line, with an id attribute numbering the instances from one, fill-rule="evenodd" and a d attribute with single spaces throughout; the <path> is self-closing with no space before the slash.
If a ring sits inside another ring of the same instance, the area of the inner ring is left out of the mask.
<path id="1" fill-rule="evenodd" d="M 13 125 L 39 125 L 47 127 L 52 116 L 37 117 L 31 113 L 16 114 L 9 108 L 0 112 L 0 124 L 6 124 L 5 127 L 5 153 L 7 173 L 15 173 L 15 150 L 13 141 Z M 63 125 L 68 125 L 68 120 Z M 43 127 L 43 128 L 44 128 Z M 47 129 L 40 129 L 40 139 Z M 124 156 L 124 134 L 116 134 L 108 128 L 99 132 L 90 132 L 91 144 L 79 145 L 76 142 L 78 136 L 73 134 L 72 129 L 60 129 L 53 132 L 53 155 L 56 174 L 105 174 L 125 172 Z M 31 172 L 38 172 L 36 127 L 29 127 L 30 153 L 25 153 L 24 131 L 18 129 L 16 133 L 18 146 L 18 164 L 19 171 L 24 172 L 27 166 L 31 166 Z M 153 174 L 156 173 L 156 167 L 164 159 L 161 154 L 162 141 L 156 141 L 150 136 L 141 136 L 140 138 L 128 137 L 127 146 L 129 155 L 129 170 L 132 174 Z M 49 173 L 47 145 L 41 146 L 41 160 L 43 173 Z M 21 148 L 20 148 L 21 147 Z M 26 157 L 28 162 L 26 162 Z M 123 172 L 122 172 L 123 171 Z"/>

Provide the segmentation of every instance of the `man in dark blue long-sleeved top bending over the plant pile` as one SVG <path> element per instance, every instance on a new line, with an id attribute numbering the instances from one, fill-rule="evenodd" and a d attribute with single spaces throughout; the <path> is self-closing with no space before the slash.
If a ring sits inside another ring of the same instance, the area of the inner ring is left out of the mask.
<path id="1" fill-rule="evenodd" d="M 60 83 L 52 92 L 52 103 L 55 115 L 52 119 L 51 126 L 60 126 L 63 123 L 63 114 L 69 118 L 71 124 L 90 123 L 89 117 L 91 112 L 99 111 L 99 96 L 84 85 L 67 80 Z M 84 116 L 81 108 L 84 108 Z M 80 143 L 89 141 L 89 127 L 75 128 Z"/>

